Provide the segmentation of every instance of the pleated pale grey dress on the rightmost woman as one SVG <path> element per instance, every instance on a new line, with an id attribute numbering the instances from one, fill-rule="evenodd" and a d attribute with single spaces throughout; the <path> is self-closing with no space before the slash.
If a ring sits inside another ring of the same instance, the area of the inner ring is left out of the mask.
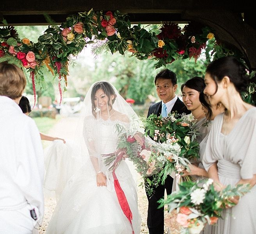
<path id="1" fill-rule="evenodd" d="M 256 174 L 256 108 L 249 109 L 228 135 L 221 133 L 224 113 L 215 117 L 206 144 L 203 165 L 206 171 L 217 161 L 220 183 L 235 185 Z M 225 209 L 212 234 L 256 233 L 256 186 Z"/>

